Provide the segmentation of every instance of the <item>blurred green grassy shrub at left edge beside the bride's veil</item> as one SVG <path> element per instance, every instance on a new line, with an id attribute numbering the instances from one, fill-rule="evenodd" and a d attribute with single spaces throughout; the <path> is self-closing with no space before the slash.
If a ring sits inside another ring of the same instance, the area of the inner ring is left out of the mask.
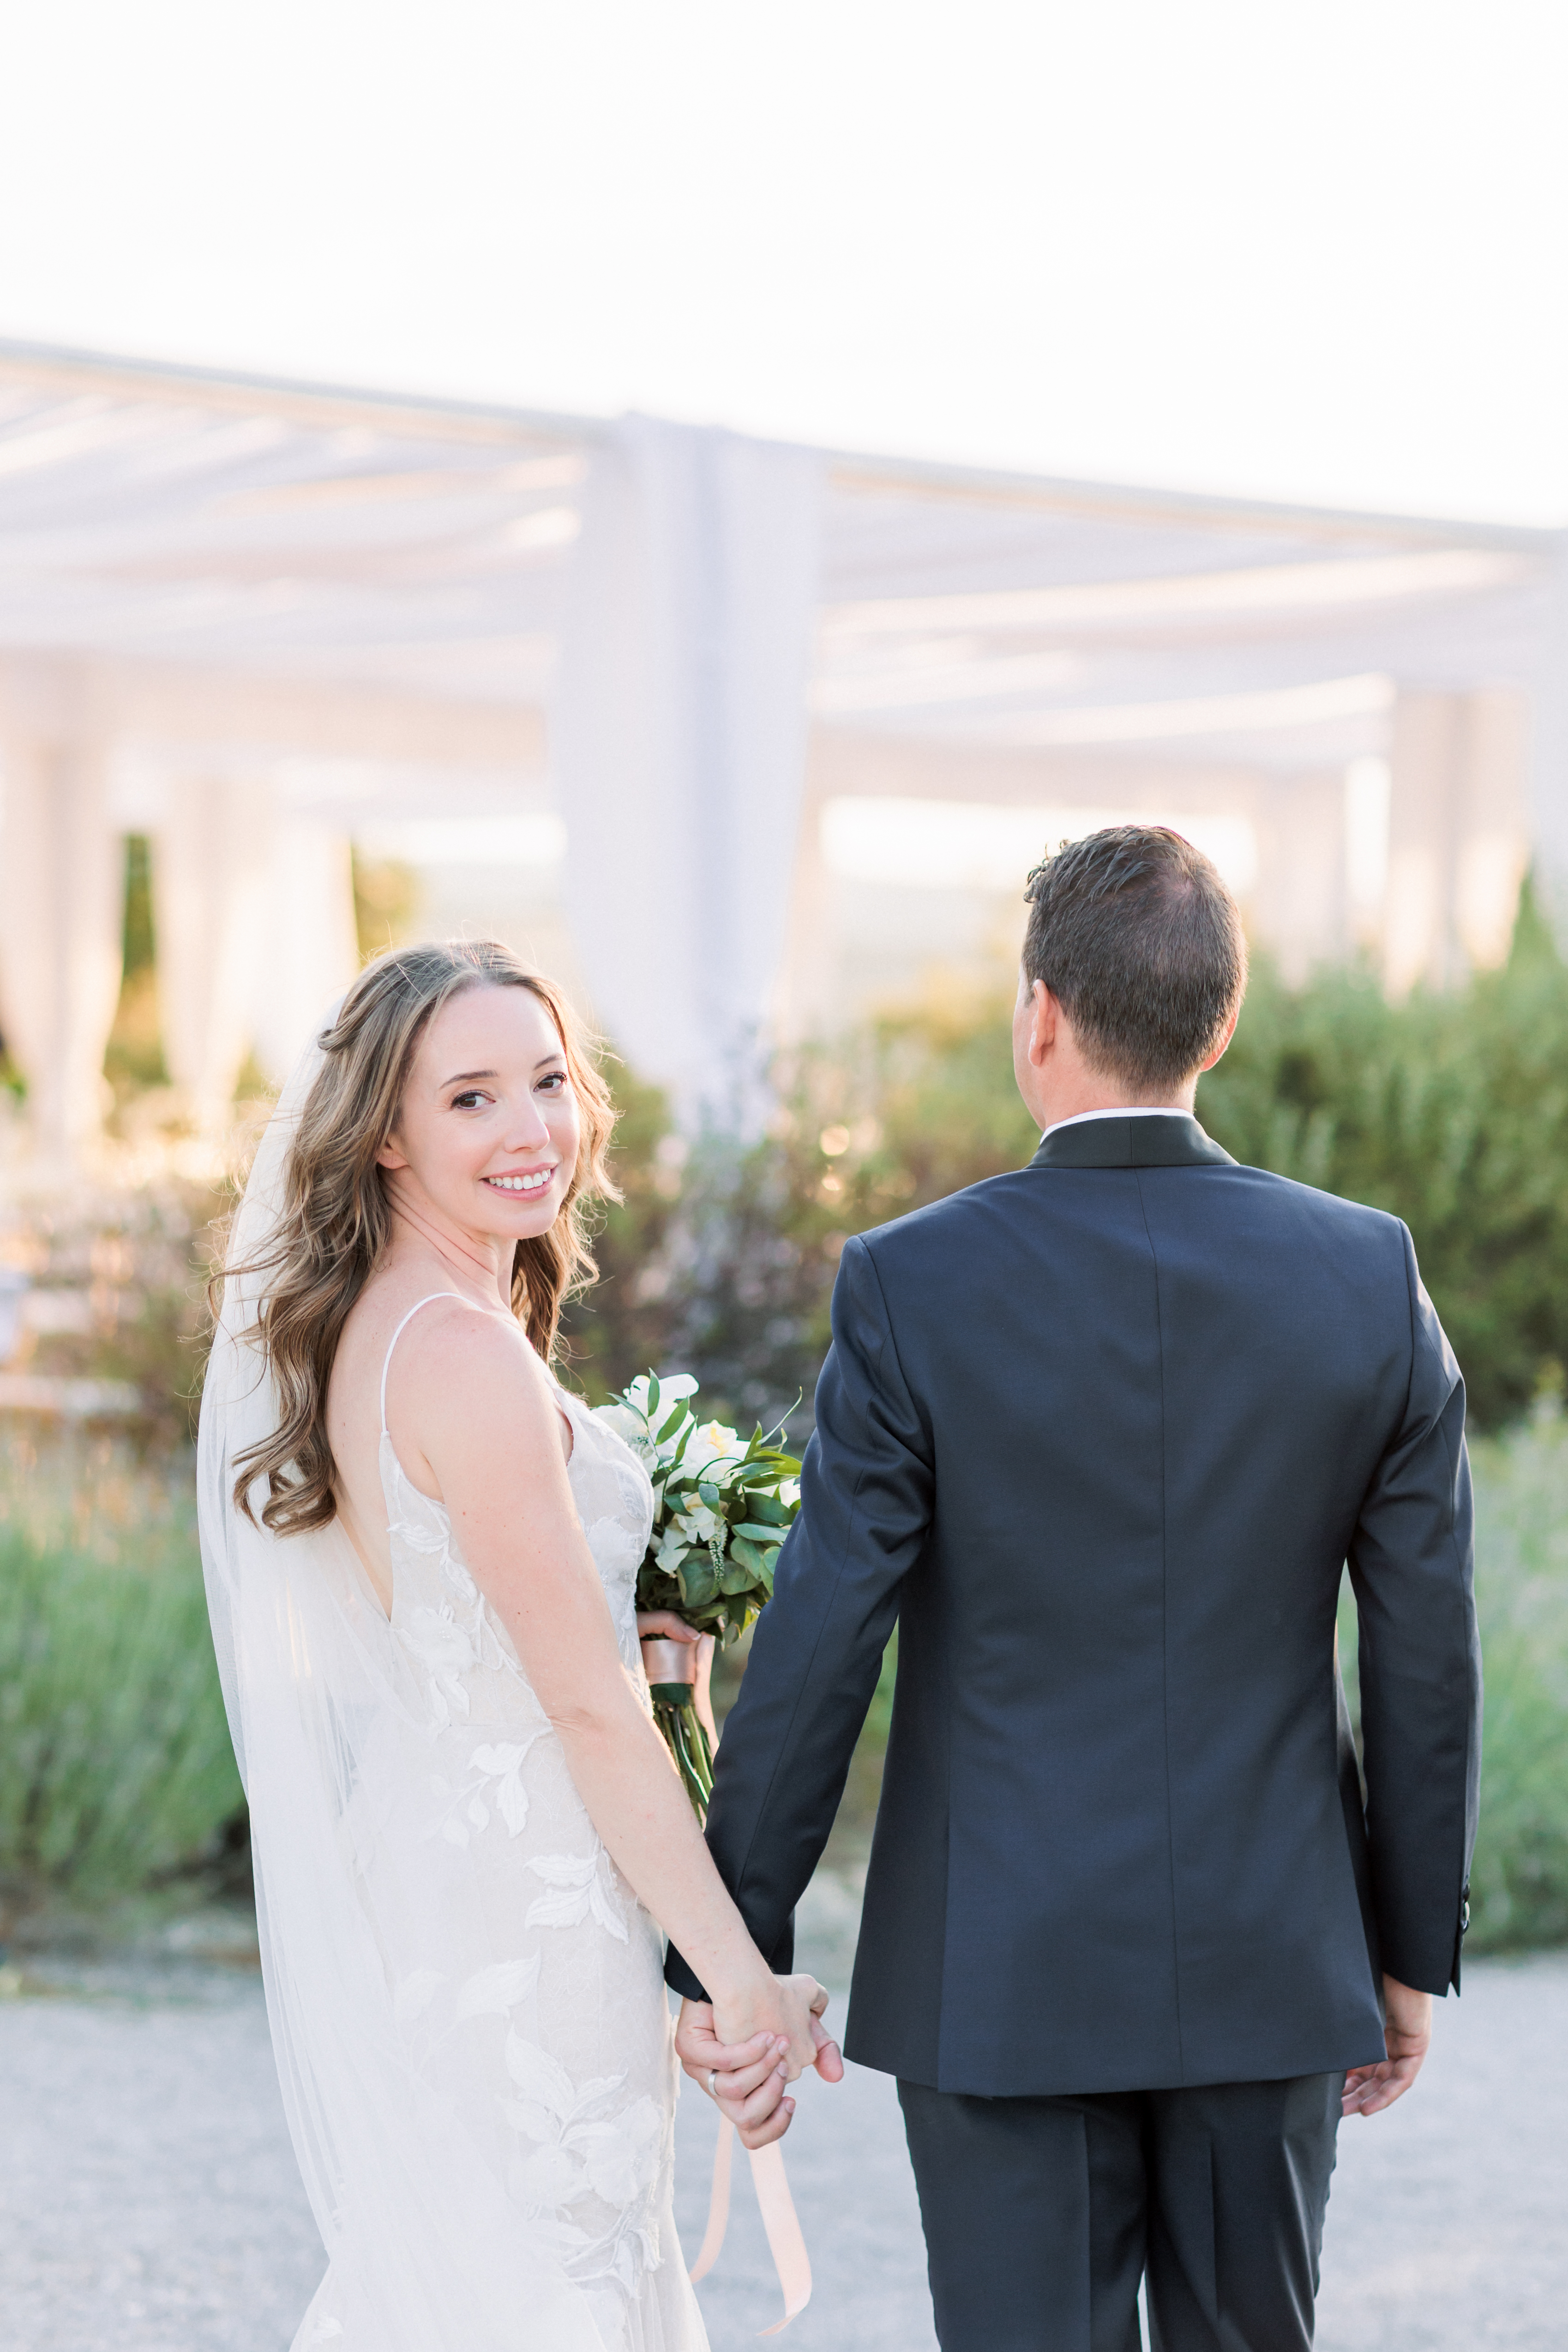
<path id="1" fill-rule="evenodd" d="M 202 1863 L 242 1804 L 188 1463 L 14 1451 L 0 1486 L 0 1879 L 96 1900 Z"/>

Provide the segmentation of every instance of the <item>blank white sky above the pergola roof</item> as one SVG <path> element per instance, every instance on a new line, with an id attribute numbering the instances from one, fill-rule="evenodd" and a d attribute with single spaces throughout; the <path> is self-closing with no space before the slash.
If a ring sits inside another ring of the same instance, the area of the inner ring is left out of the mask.
<path id="1" fill-rule="evenodd" d="M 0 334 L 1568 524 L 1561 0 L 2 0 Z"/>

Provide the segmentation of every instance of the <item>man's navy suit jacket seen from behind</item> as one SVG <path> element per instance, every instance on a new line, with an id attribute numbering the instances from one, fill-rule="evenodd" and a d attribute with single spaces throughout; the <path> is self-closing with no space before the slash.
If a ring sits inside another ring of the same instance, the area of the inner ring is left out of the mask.
<path id="1" fill-rule="evenodd" d="M 1458 1985 L 1465 1390 L 1396 1218 L 1180 1115 L 1056 1129 L 846 1242 L 802 1486 L 708 1842 L 785 1969 L 898 1623 L 851 2058 L 987 2096 L 1316 2074 L 1382 2058 L 1380 1969 Z"/>

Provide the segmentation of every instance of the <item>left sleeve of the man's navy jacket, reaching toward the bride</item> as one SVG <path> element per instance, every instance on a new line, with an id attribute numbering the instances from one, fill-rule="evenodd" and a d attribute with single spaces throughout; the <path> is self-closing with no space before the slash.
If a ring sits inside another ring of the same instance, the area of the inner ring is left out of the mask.
<path id="1" fill-rule="evenodd" d="M 712 1858 L 776 1971 L 792 1964 L 795 1903 L 827 1844 L 898 1590 L 929 1522 L 931 1435 L 898 1367 L 872 1254 L 851 1240 L 832 1291 L 802 1508 L 724 1724 L 708 1809 Z M 675 1947 L 665 1978 L 705 1999 Z"/>

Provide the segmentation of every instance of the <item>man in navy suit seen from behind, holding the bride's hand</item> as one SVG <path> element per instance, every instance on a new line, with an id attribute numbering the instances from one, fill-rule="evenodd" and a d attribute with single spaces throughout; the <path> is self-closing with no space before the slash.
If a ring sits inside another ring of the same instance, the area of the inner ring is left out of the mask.
<path id="1" fill-rule="evenodd" d="M 708 1839 L 788 1969 L 898 1623 L 846 2053 L 898 2077 L 945 2352 L 1133 2352 L 1140 2274 L 1161 2352 L 1293 2352 L 1340 2110 L 1460 1983 L 1465 1390 L 1406 1228 L 1192 1115 L 1246 983 L 1208 858 L 1119 826 L 1030 901 L 1041 1145 L 844 1247 Z"/>

